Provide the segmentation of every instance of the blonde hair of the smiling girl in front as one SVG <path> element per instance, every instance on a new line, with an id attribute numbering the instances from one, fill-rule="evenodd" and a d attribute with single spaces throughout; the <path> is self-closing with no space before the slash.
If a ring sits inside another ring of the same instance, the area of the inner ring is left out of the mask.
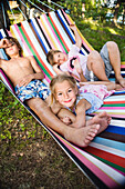
<path id="1" fill-rule="evenodd" d="M 70 86 L 75 89 L 76 88 L 76 80 L 72 77 L 69 76 L 66 73 L 61 73 L 55 76 L 51 82 L 50 82 L 50 90 L 51 90 L 51 105 L 53 105 L 54 102 L 56 102 L 55 99 L 55 84 L 56 83 L 62 83 L 63 81 L 69 81 Z"/>

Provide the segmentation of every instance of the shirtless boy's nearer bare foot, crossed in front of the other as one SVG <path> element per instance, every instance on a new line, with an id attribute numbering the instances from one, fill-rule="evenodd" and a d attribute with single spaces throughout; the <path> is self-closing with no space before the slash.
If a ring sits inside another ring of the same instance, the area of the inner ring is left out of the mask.
<path id="1" fill-rule="evenodd" d="M 65 139 L 80 146 L 87 147 L 88 143 L 95 138 L 98 133 L 100 125 L 92 125 L 90 127 L 83 128 L 71 128 L 66 129 L 66 133 L 64 135 Z"/>

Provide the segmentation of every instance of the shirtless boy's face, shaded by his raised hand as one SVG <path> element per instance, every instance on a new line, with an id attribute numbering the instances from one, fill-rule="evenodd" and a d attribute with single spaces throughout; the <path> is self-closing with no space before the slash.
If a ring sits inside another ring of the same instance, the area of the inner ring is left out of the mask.
<path id="1" fill-rule="evenodd" d="M 10 43 L 8 44 L 8 47 L 4 48 L 4 49 L 6 49 L 6 53 L 7 53 L 9 57 L 19 53 L 19 50 L 20 50 L 20 49 L 18 48 L 18 46 L 17 46 L 15 42 L 10 42 Z"/>

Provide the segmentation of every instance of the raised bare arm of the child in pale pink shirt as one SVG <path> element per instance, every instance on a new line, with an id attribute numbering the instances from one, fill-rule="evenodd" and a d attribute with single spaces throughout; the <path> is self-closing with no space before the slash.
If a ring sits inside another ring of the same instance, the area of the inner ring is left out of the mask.
<path id="1" fill-rule="evenodd" d="M 79 31 L 77 31 L 75 24 L 71 24 L 70 28 L 74 31 L 76 46 L 77 46 L 79 48 L 81 48 L 81 46 L 82 46 L 82 39 L 81 39 L 80 34 L 79 34 Z"/>

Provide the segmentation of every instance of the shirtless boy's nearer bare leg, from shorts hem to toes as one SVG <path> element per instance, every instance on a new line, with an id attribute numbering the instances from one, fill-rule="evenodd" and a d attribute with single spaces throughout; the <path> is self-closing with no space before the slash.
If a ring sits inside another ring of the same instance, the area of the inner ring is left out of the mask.
<path id="1" fill-rule="evenodd" d="M 79 129 L 64 125 L 40 98 L 29 99 L 27 103 L 45 126 L 61 133 L 66 140 L 77 146 L 86 147 L 100 130 L 100 125 L 90 125 L 88 127 Z"/>

